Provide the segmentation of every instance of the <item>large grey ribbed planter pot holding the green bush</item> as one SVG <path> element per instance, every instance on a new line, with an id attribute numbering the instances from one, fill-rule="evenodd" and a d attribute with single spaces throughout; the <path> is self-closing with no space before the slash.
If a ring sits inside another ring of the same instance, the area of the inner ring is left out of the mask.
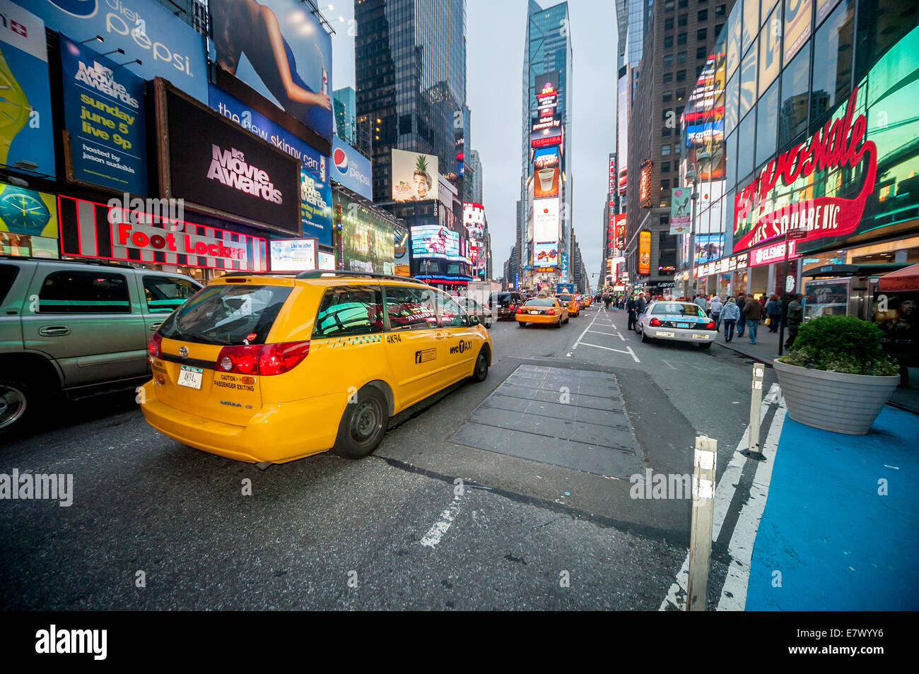
<path id="1" fill-rule="evenodd" d="M 789 417 L 824 431 L 864 435 L 900 383 L 900 375 L 845 375 L 773 361 Z"/>

